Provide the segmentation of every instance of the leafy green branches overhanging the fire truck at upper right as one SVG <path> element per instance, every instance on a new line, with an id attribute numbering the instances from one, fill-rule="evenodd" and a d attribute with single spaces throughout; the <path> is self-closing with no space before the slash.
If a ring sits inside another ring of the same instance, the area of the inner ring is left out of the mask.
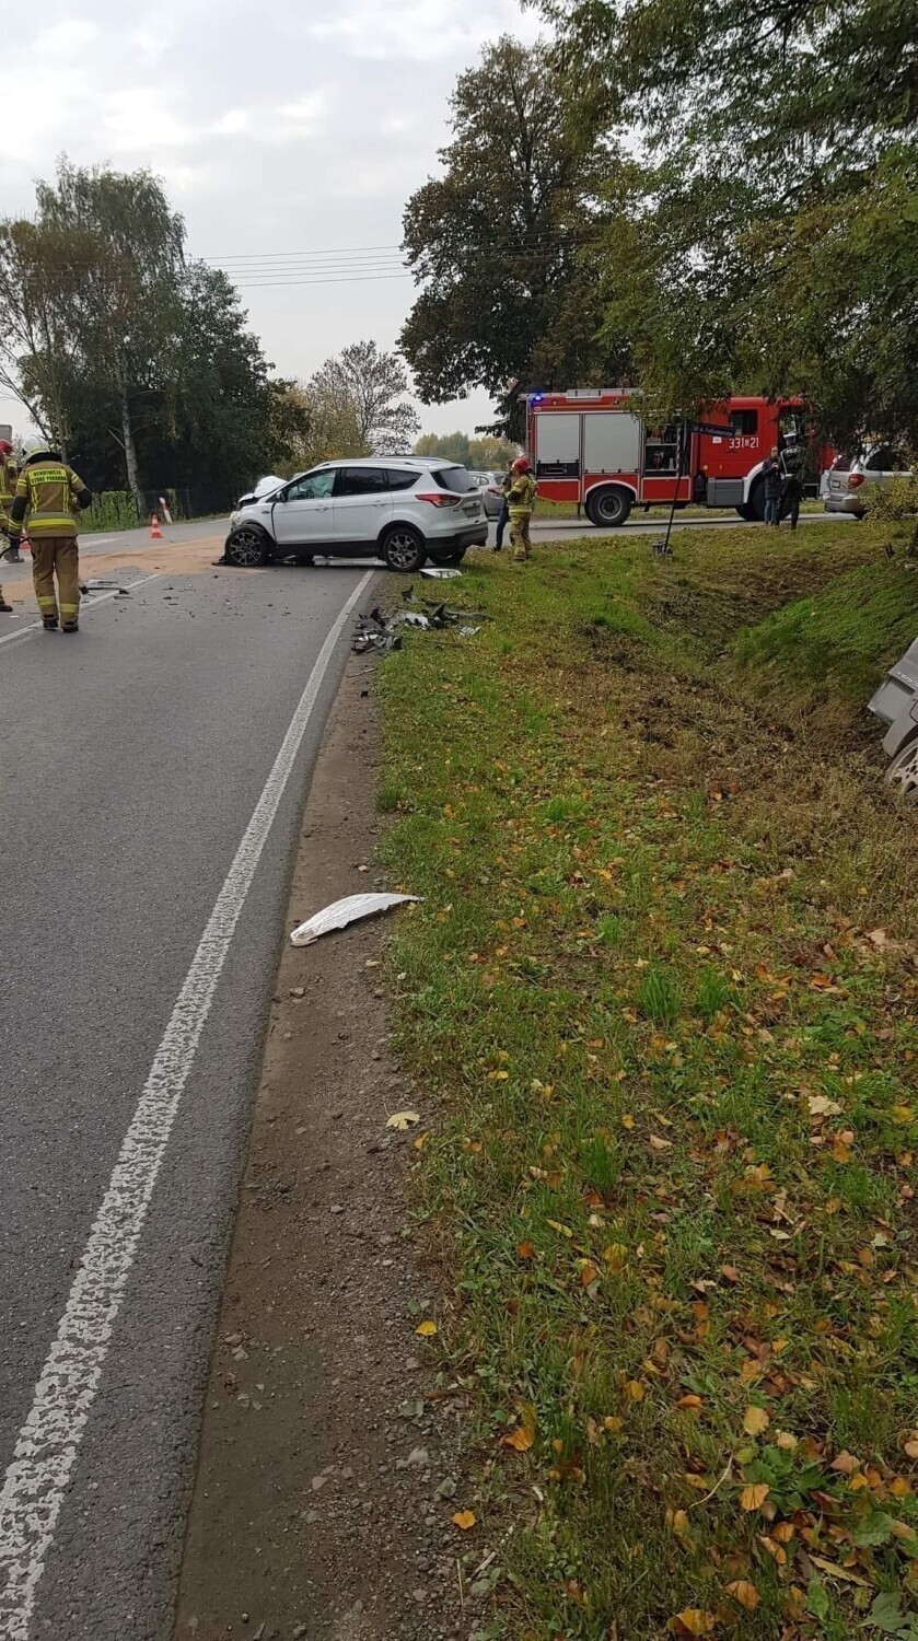
<path id="1" fill-rule="evenodd" d="M 639 144 L 594 266 L 640 386 L 670 409 L 800 392 L 836 441 L 918 446 L 911 0 L 542 10 Z"/>

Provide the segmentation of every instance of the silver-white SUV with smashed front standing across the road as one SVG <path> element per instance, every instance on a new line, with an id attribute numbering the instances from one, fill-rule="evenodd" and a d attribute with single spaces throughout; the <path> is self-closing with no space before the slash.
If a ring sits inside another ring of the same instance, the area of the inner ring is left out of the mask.
<path id="1" fill-rule="evenodd" d="M 481 492 L 465 468 L 424 458 L 324 461 L 281 489 L 245 497 L 230 519 L 227 561 L 236 568 L 296 558 L 383 558 L 414 574 L 427 558 L 458 565 L 484 546 Z"/>

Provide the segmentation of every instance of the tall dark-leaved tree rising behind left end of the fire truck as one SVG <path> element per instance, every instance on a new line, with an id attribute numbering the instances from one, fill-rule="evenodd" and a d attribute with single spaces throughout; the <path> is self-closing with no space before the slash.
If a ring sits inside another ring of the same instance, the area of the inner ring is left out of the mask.
<path id="1" fill-rule="evenodd" d="M 404 248 L 424 286 L 401 333 L 420 397 L 484 387 L 494 432 L 519 433 L 519 394 L 617 382 L 626 358 L 598 341 L 599 286 L 583 248 L 619 166 L 575 71 L 511 38 L 460 75 L 443 176 L 411 197 Z"/>

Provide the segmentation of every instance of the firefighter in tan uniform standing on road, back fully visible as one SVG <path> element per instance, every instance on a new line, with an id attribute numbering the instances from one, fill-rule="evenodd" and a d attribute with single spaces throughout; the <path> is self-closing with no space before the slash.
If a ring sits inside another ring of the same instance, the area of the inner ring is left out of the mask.
<path id="1" fill-rule="evenodd" d="M 31 579 L 46 632 L 57 627 L 77 632 L 80 614 L 79 553 L 76 512 L 92 501 L 82 479 L 56 451 L 46 450 L 39 440 L 16 479 L 16 494 L 10 510 L 10 540 L 20 540 L 28 520 L 31 545 Z M 54 589 L 57 576 L 57 591 Z"/>

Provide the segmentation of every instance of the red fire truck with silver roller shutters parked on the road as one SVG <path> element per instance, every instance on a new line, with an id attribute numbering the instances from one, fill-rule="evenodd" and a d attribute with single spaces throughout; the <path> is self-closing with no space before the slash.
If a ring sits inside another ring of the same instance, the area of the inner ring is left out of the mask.
<path id="1" fill-rule="evenodd" d="M 673 499 L 677 507 L 736 507 L 741 519 L 762 519 L 770 450 L 808 448 L 801 399 L 739 394 L 706 410 L 701 430 L 650 423 L 636 414 L 636 399 L 627 387 L 527 395 L 529 459 L 545 501 L 581 502 L 596 525 L 624 523 L 632 507 Z"/>

